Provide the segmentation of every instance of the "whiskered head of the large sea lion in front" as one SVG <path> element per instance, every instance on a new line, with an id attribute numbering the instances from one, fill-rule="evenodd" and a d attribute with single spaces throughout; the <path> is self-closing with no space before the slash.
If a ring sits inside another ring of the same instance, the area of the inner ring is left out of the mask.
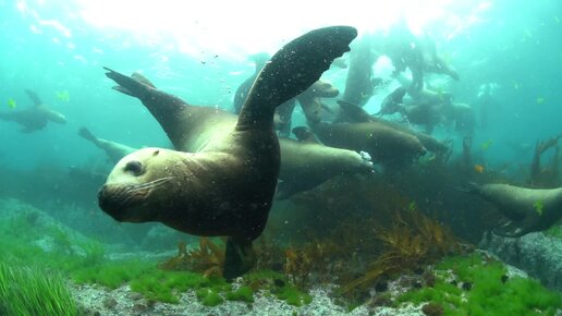
<path id="1" fill-rule="evenodd" d="M 99 207 L 118 221 L 158 220 L 158 211 L 175 193 L 174 157 L 178 151 L 143 148 L 123 157 L 99 190 Z"/>

